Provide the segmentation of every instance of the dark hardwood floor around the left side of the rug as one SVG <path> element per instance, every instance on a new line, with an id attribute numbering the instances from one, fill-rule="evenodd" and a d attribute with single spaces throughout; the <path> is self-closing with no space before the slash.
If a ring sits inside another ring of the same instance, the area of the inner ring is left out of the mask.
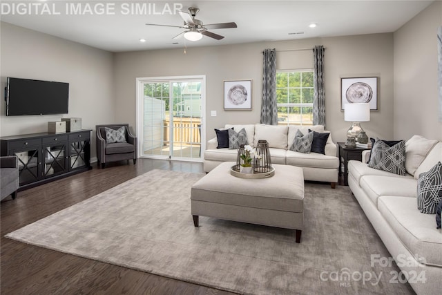
<path id="1" fill-rule="evenodd" d="M 202 173 L 201 163 L 138 159 L 20 191 L 1 207 L 1 294 L 232 294 L 4 238 L 153 169 Z M 189 213 L 190 214 L 190 213 Z"/>

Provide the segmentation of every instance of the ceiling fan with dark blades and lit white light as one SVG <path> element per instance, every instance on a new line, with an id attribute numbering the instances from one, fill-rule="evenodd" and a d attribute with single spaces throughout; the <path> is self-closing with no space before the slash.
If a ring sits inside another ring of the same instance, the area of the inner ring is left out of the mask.
<path id="1" fill-rule="evenodd" d="M 182 19 L 184 20 L 183 26 L 160 25 L 157 23 L 146 23 L 146 25 L 183 28 L 185 31 L 176 35 L 172 39 L 178 39 L 184 35 L 184 38 L 190 41 L 197 41 L 202 38 L 202 35 L 220 40 L 224 38 L 224 36 L 215 34 L 213 32 L 209 32 L 207 29 L 236 28 L 236 23 L 211 23 L 209 25 L 204 25 L 202 21 L 200 21 L 199 19 L 195 19 L 195 16 L 198 13 L 198 11 L 200 10 L 195 7 L 189 8 L 189 12 L 179 11 L 178 13 L 181 15 Z"/>

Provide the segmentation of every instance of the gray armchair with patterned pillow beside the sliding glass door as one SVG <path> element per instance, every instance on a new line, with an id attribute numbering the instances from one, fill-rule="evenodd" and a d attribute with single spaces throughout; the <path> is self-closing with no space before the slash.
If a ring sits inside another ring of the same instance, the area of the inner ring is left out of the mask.
<path id="1" fill-rule="evenodd" d="M 117 131 L 124 126 L 124 140 L 122 138 L 109 137 L 106 140 L 106 127 Z M 98 166 L 104 168 L 108 162 L 116 162 L 122 160 L 133 160 L 133 164 L 137 162 L 137 137 L 135 137 L 130 129 L 129 124 L 107 124 L 95 126 L 97 135 L 97 159 Z M 115 142 L 116 141 L 116 142 Z M 111 143 L 109 143 L 111 142 Z"/>

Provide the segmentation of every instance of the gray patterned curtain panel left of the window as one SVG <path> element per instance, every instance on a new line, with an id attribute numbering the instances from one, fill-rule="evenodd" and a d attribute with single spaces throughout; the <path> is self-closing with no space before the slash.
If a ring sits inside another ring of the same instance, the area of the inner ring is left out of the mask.
<path id="1" fill-rule="evenodd" d="M 276 50 L 266 49 L 262 69 L 262 124 L 278 124 L 278 108 L 276 107 Z"/>

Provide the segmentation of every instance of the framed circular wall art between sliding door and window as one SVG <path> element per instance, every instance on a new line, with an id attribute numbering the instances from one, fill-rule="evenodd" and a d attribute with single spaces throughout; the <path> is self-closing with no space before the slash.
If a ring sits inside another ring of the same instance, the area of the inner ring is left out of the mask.
<path id="1" fill-rule="evenodd" d="M 251 80 L 224 81 L 224 110 L 251 110 Z"/>

